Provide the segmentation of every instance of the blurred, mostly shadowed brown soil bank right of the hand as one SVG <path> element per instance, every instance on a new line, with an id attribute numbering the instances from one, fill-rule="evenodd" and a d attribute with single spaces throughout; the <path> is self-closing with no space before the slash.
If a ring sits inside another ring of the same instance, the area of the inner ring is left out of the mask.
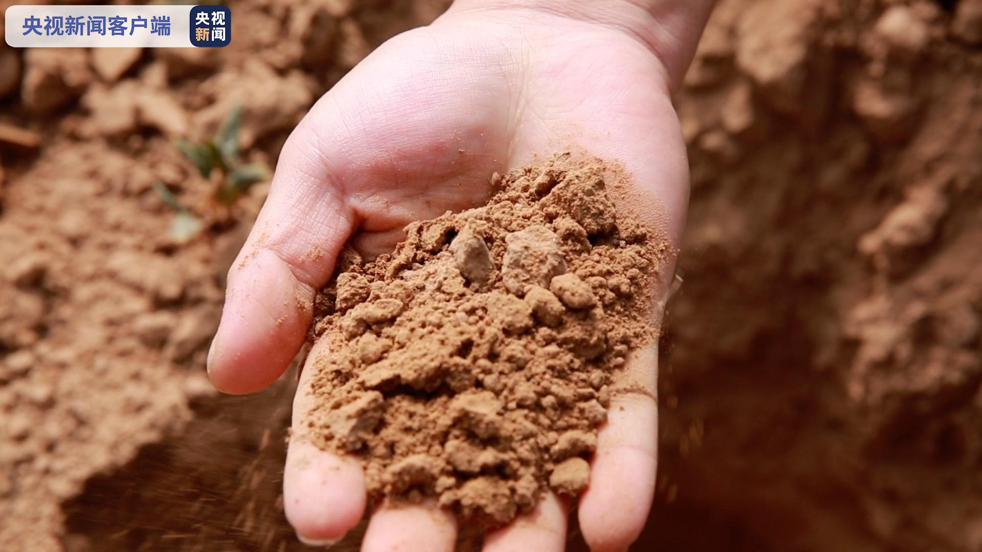
<path id="1" fill-rule="evenodd" d="M 693 194 L 652 534 L 982 546 L 978 6 L 720 5 L 679 101 Z"/>

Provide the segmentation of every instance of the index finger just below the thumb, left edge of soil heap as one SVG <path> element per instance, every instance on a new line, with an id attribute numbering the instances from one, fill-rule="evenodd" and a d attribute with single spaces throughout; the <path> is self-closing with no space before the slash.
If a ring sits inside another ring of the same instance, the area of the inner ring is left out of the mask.
<path id="1" fill-rule="evenodd" d="M 314 344 L 308 361 L 315 361 L 327 349 L 326 340 Z M 365 483 L 354 458 L 322 451 L 307 438 L 305 420 L 315 400 L 309 394 L 313 372 L 309 367 L 302 371 L 294 398 L 293 429 L 283 474 L 283 505 L 300 540 L 330 544 L 344 537 L 364 515 Z"/>

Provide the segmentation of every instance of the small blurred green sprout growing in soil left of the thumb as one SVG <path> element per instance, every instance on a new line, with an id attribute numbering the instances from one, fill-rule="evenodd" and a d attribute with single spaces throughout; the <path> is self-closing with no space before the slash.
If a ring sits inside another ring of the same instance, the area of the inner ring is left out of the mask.
<path id="1" fill-rule="evenodd" d="M 188 138 L 174 140 L 175 147 L 185 156 L 197 172 L 205 179 L 218 170 L 222 174 L 214 197 L 223 205 L 232 205 L 246 193 L 250 186 L 269 178 L 269 169 L 261 163 L 244 163 L 239 150 L 239 130 L 242 127 L 242 107 L 236 105 L 218 127 L 215 137 L 204 142 L 194 142 Z M 191 211 L 181 205 L 178 198 L 163 183 L 156 183 L 153 189 L 164 203 L 174 210 L 170 238 L 185 244 L 194 239 L 204 225 Z"/>

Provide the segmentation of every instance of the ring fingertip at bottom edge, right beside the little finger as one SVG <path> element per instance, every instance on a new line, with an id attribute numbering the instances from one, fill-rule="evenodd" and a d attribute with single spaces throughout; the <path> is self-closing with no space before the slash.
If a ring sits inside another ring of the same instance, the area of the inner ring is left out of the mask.
<path id="1" fill-rule="evenodd" d="M 568 508 L 553 493 L 546 495 L 528 514 L 512 524 L 484 536 L 484 552 L 541 550 L 562 552 L 566 548 Z"/>

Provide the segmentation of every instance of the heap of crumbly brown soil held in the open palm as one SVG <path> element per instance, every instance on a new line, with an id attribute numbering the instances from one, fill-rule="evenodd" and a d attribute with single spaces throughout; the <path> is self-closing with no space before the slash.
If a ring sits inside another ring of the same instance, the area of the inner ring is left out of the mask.
<path id="1" fill-rule="evenodd" d="M 589 484 L 609 384 L 656 335 L 666 252 L 615 207 L 618 174 L 563 153 L 495 174 L 486 205 L 410 224 L 390 254 L 343 253 L 305 423 L 360 459 L 371 497 L 497 525 Z"/>

